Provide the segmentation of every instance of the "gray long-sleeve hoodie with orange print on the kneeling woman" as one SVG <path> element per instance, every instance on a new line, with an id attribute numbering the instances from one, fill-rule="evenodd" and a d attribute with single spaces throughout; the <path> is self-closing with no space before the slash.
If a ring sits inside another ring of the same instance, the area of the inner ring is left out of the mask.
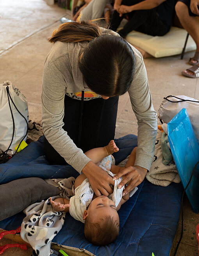
<path id="1" fill-rule="evenodd" d="M 108 33 L 118 35 L 111 30 L 108 30 Z M 76 147 L 62 126 L 64 125 L 64 111 L 67 111 L 67 109 L 64 110 L 65 94 L 80 100 L 79 95 L 83 90 L 85 91 L 84 100 L 94 100 L 94 98 L 100 97 L 100 95 L 91 92 L 78 68 L 79 56 L 86 45 L 87 42 L 62 43 L 56 41 L 44 63 L 42 87 L 44 135 L 66 162 L 80 173 L 91 159 L 87 158 L 83 151 Z M 138 149 L 135 165 L 149 170 L 155 151 L 156 111 L 152 104 L 143 57 L 137 49 L 134 47 L 132 49 L 136 59 L 136 70 L 128 93 L 138 121 Z"/>

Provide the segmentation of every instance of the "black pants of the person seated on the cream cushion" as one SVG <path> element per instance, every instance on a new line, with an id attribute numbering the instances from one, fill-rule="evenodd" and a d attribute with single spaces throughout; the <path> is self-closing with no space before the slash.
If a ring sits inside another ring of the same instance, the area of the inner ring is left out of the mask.
<path id="1" fill-rule="evenodd" d="M 121 4 L 130 6 L 139 2 L 141 1 L 123 0 Z M 119 17 L 119 13 L 114 11 L 110 23 L 110 29 L 116 31 L 119 24 L 123 18 L 126 18 L 126 16 L 128 16 L 129 21 L 124 25 L 123 29 L 118 32 L 118 34 L 123 38 L 132 30 L 136 30 L 151 36 L 163 36 L 170 29 L 169 25 L 166 25 L 160 20 L 160 17 L 156 13 L 155 9 L 132 11 L 131 13 L 123 14 L 122 17 Z"/>

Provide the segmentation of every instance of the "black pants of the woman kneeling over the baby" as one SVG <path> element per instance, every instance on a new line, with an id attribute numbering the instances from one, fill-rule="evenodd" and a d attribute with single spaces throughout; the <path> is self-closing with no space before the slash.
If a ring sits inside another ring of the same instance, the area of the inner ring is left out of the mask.
<path id="1" fill-rule="evenodd" d="M 95 147 L 104 147 L 115 136 L 115 123 L 117 118 L 118 96 L 107 100 L 96 98 L 84 101 L 82 111 L 82 135 L 80 149 L 83 152 Z M 81 100 L 65 95 L 64 99 L 64 131 L 78 146 L 80 127 Z M 47 160 L 54 165 L 66 165 L 66 161 L 52 147 L 48 140 L 44 140 L 44 149 Z"/>

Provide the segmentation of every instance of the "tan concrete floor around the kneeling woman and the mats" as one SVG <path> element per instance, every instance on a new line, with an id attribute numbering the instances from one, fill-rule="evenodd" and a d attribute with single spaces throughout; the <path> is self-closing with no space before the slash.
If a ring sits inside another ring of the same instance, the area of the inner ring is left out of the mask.
<path id="1" fill-rule="evenodd" d="M 28 100 L 29 118 L 41 122 L 41 83 L 43 64 L 50 51 L 48 38 L 59 27 L 63 16 L 71 18 L 68 10 L 57 4 L 49 6 L 44 0 L 9 0 L 0 2 L 0 83 L 11 81 Z M 193 52 L 160 59 L 145 59 L 153 105 L 158 111 L 163 97 L 187 95 L 199 99 L 199 79 L 183 77 L 181 71 L 190 67 L 188 59 Z M 137 121 L 130 99 L 125 94 L 119 99 L 115 138 L 129 133 L 137 134 Z M 199 216 L 192 212 L 190 203 L 184 203 L 184 234 L 177 256 L 196 256 L 195 227 Z M 180 237 L 180 225 L 176 232 L 171 256 Z M 7 241 L 2 240 L 0 245 Z M 14 251 L 12 251 L 14 250 Z M 30 255 L 30 251 L 9 249 L 4 255 Z"/>

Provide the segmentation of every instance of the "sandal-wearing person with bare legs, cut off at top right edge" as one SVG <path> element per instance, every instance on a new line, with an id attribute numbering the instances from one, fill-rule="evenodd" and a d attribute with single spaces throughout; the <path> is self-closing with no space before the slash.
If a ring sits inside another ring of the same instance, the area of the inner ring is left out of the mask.
<path id="1" fill-rule="evenodd" d="M 175 6 L 176 14 L 184 29 L 192 36 L 196 43 L 194 57 L 190 58 L 190 65 L 193 66 L 182 72 L 186 77 L 199 77 L 199 0 L 179 0 Z M 198 74 L 198 75 L 197 75 Z"/>

